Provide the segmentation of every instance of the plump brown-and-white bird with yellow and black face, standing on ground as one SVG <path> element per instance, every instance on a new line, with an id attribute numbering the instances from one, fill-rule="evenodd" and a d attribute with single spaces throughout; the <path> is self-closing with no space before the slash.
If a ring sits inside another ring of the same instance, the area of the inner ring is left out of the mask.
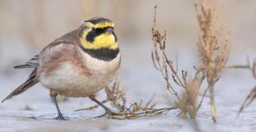
<path id="1" fill-rule="evenodd" d="M 56 120 L 67 120 L 57 104 L 57 95 L 88 97 L 105 110 L 99 117 L 114 114 L 95 99 L 95 93 L 119 75 L 120 65 L 121 54 L 114 23 L 108 18 L 90 18 L 78 29 L 51 42 L 28 62 L 14 66 L 14 69 L 34 70 L 2 103 L 40 83 L 49 89 L 49 96 L 56 106 Z"/>

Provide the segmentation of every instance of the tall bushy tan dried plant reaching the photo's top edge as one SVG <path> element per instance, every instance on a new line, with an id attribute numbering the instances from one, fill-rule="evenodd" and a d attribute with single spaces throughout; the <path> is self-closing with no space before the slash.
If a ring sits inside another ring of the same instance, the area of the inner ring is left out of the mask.
<path id="1" fill-rule="evenodd" d="M 199 70 L 207 75 L 207 84 L 210 92 L 212 118 L 216 116 L 215 91 L 216 82 L 221 77 L 222 69 L 225 68 L 230 55 L 230 34 L 225 42 L 220 44 L 221 32 L 215 26 L 215 0 L 200 0 L 200 11 L 196 1 L 195 9 L 200 26 L 198 54 Z"/>

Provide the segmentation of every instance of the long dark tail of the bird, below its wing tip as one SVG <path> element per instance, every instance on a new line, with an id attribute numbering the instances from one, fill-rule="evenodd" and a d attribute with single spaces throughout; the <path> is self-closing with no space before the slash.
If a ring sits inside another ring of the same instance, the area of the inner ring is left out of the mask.
<path id="1" fill-rule="evenodd" d="M 25 92 L 27 89 L 29 89 L 31 86 L 33 86 L 34 84 L 37 84 L 38 81 L 38 77 L 36 75 L 36 68 L 33 70 L 33 72 L 30 74 L 30 76 L 27 78 L 26 82 L 21 84 L 16 90 L 14 90 L 13 92 L 11 92 L 11 94 L 9 94 L 3 101 L 2 103 L 6 100 L 6 99 L 11 99 L 12 97 L 19 95 L 22 92 Z"/>

